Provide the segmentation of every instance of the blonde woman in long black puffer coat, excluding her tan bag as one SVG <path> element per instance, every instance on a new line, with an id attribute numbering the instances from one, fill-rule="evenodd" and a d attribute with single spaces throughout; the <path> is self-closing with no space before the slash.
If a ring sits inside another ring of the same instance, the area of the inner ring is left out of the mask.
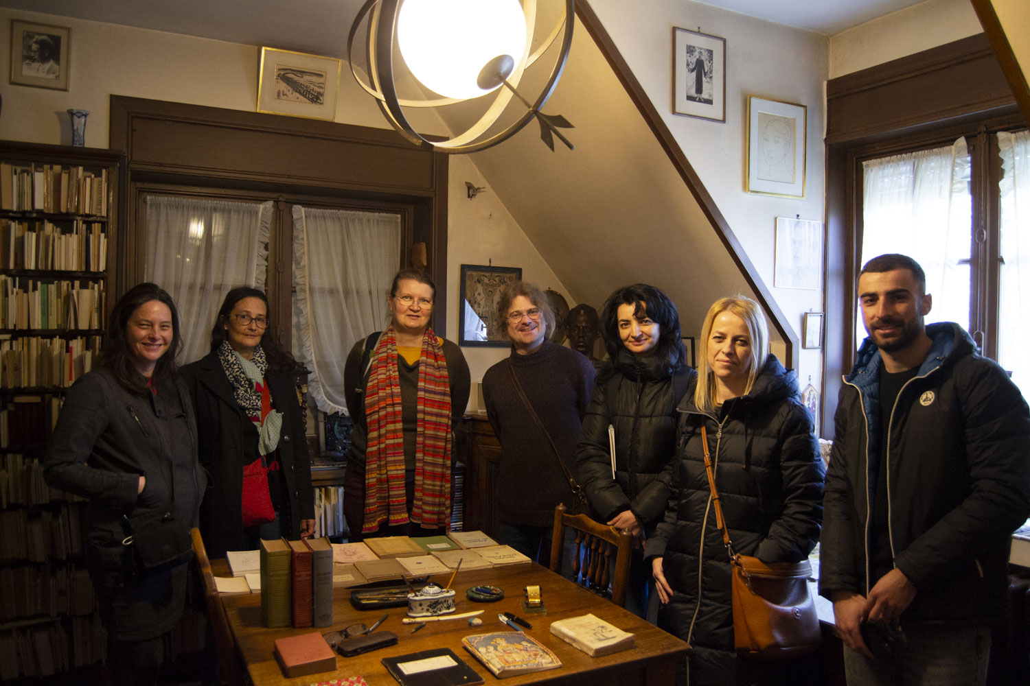
<path id="1" fill-rule="evenodd" d="M 647 547 L 658 625 L 693 647 L 678 684 L 779 684 L 797 669 L 734 652 L 729 556 L 700 434 L 705 427 L 733 550 L 764 563 L 804 559 L 819 538 L 825 468 L 797 380 L 765 356 L 767 340 L 758 303 L 716 301 L 701 329 L 698 375 L 680 403 L 676 496 Z"/>

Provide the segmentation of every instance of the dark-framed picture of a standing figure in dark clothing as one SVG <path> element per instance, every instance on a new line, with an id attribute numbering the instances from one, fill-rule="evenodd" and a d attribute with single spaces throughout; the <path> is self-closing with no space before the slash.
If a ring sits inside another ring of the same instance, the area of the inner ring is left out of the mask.
<path id="1" fill-rule="evenodd" d="M 673 112 L 726 120 L 726 39 L 673 29 Z"/>

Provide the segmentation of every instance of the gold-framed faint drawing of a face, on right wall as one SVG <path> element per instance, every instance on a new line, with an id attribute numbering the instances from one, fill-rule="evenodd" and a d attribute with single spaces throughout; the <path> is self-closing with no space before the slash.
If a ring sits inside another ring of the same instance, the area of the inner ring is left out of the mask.
<path id="1" fill-rule="evenodd" d="M 747 191 L 804 197 L 804 105 L 748 97 Z"/>

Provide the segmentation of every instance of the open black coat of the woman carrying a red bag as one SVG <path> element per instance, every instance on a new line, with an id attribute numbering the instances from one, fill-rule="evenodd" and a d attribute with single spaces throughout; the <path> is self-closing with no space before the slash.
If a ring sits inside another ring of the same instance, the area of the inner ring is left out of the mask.
<path id="1" fill-rule="evenodd" d="M 243 467 L 261 457 L 258 428 L 236 402 L 217 353 L 208 353 L 182 367 L 182 375 L 197 410 L 200 464 L 210 475 L 200 530 L 208 555 L 224 557 L 226 550 L 243 546 Z M 288 373 L 269 369 L 265 381 L 272 394 L 272 408 L 283 414 L 276 474 L 282 485 L 280 494 L 287 497 L 279 503 L 279 520 L 282 535 L 296 540 L 301 537 L 301 520 L 314 517 L 304 417 Z"/>

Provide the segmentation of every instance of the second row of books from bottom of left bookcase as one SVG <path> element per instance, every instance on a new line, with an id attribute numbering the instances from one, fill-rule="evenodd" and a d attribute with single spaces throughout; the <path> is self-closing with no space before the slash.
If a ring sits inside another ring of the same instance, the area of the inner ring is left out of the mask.
<path id="1" fill-rule="evenodd" d="M 0 568 L 0 587 L 9 591 L 0 594 L 0 622 L 61 615 L 83 617 L 97 609 L 93 582 L 84 568 L 74 565 L 47 567 Z"/>

